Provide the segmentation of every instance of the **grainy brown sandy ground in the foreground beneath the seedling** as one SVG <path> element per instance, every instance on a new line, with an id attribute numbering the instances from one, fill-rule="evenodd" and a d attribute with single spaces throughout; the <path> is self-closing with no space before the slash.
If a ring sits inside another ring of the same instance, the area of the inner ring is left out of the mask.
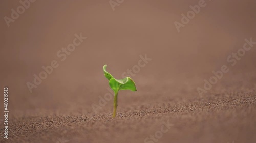
<path id="1" fill-rule="evenodd" d="M 116 119 L 75 109 L 13 117 L 8 142 L 153 142 L 151 136 L 155 142 L 255 142 L 255 90 L 197 99 L 160 97 L 159 104 L 147 102 L 151 105 L 136 99 L 136 107 L 120 102 Z"/>

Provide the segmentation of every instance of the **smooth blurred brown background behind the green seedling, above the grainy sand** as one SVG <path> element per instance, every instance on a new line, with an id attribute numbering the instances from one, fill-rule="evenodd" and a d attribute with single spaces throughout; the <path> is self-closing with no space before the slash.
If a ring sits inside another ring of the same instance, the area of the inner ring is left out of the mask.
<path id="1" fill-rule="evenodd" d="M 181 22 L 181 14 L 198 0 L 124 1 L 114 11 L 109 1 L 38 0 L 10 27 L 3 18 L 11 17 L 11 9 L 20 3 L 1 1 L 0 84 L 9 87 L 11 116 L 94 114 L 92 103 L 108 92 L 102 66 L 108 64 L 108 71 L 121 78 L 145 54 L 152 60 L 132 77 L 138 91 L 120 93 L 119 111 L 139 109 L 141 104 L 158 106 L 164 99 L 199 98 L 197 87 L 212 76 L 211 71 L 229 65 L 227 56 L 242 48 L 245 38 L 256 41 L 256 1 L 205 3 L 178 33 L 174 22 Z M 60 61 L 57 51 L 72 43 L 76 33 L 88 38 Z M 255 47 L 212 91 L 223 85 L 239 89 L 240 83 L 254 87 Z M 26 83 L 33 83 L 33 74 L 52 60 L 59 67 L 30 93 Z M 99 113 L 111 113 L 112 101 L 105 107 Z"/>

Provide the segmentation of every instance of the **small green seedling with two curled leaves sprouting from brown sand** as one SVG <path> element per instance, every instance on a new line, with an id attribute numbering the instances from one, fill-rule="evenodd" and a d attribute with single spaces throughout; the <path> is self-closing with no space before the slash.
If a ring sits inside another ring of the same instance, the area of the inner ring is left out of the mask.
<path id="1" fill-rule="evenodd" d="M 110 88 L 114 91 L 114 109 L 113 118 L 116 117 L 117 108 L 117 94 L 119 90 L 131 90 L 137 91 L 135 82 L 130 77 L 125 77 L 123 79 L 115 79 L 109 72 L 106 71 L 106 65 L 103 66 L 103 72 L 106 79 L 109 80 Z"/>

